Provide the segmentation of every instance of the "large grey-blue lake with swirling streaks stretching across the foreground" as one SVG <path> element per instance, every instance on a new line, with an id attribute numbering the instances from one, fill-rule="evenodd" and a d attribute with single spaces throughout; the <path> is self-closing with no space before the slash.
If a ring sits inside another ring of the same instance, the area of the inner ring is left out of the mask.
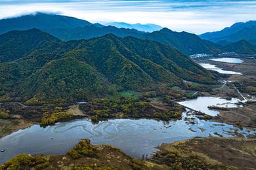
<path id="1" fill-rule="evenodd" d="M 182 120 L 163 122 L 156 120 L 116 119 L 92 124 L 89 120 L 74 120 L 54 126 L 21 129 L 0 139 L 0 163 L 20 153 L 64 154 L 78 143 L 79 139 L 91 139 L 93 144 L 112 144 L 130 156 L 141 158 L 152 154 L 161 143 L 171 143 L 193 137 L 209 135 L 233 137 L 234 132 L 244 136 L 255 135 L 255 131 L 237 129 L 228 124 L 209 122 L 194 118 L 196 124 Z M 53 139 L 51 139 L 53 138 Z"/>

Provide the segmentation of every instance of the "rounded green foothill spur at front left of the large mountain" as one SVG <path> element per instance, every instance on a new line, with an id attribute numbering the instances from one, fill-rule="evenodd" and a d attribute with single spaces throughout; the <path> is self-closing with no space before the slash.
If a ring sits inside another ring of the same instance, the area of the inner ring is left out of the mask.
<path id="1" fill-rule="evenodd" d="M 103 93 L 107 86 L 108 81 L 93 67 L 67 56 L 48 62 L 26 78 L 20 87 L 20 96 L 31 102 L 43 102 L 46 98 L 55 103 L 72 102 L 73 97 L 88 99 Z"/>

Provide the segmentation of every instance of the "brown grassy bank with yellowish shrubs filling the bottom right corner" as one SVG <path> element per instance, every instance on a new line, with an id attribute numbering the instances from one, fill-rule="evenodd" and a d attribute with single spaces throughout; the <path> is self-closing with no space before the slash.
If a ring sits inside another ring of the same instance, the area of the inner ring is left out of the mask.
<path id="1" fill-rule="evenodd" d="M 256 139 L 200 138 L 161 144 L 150 160 L 176 169 L 255 169 Z"/>

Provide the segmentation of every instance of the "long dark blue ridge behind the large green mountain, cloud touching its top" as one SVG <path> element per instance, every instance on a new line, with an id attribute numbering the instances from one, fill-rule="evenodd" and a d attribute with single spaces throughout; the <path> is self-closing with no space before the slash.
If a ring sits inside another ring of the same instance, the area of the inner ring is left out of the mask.
<path id="1" fill-rule="evenodd" d="M 100 24 L 91 24 L 87 21 L 70 18 L 68 16 L 40 13 L 0 20 L 0 33 L 13 29 L 20 30 L 33 27 L 46 31 L 64 41 L 91 39 L 112 33 L 118 37 L 133 36 L 169 44 L 186 55 L 201 53 L 215 54 L 221 52 L 219 46 L 213 42 L 202 40 L 192 33 L 178 33 L 167 28 L 152 33 L 146 33 L 137 31 L 136 29 L 117 28 L 113 26 L 105 27 Z"/>

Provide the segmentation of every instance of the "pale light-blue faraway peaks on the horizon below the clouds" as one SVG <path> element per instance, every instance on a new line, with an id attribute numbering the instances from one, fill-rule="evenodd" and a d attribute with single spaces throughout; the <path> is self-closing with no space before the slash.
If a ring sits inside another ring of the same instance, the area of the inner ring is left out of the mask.
<path id="1" fill-rule="evenodd" d="M 156 24 L 128 24 L 125 22 L 110 22 L 104 25 L 111 25 L 114 27 L 123 27 L 123 28 L 129 28 L 129 29 L 137 29 L 138 31 L 144 31 L 144 32 L 153 32 L 153 31 L 158 31 L 160 29 L 162 29 L 163 27 L 161 27 L 160 25 L 156 25 Z"/>

